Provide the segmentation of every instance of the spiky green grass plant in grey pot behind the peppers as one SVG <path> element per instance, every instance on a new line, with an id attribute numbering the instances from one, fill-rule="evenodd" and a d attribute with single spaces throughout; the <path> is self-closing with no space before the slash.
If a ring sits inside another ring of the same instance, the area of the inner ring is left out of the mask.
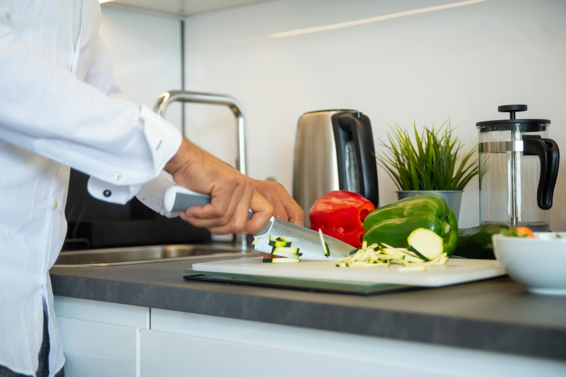
<path id="1" fill-rule="evenodd" d="M 449 119 L 438 129 L 434 125 L 423 126 L 420 135 L 413 124 L 415 144 L 408 130 L 398 124 L 390 128 L 389 144 L 381 141 L 385 151 L 376 159 L 399 189 L 398 199 L 425 192 L 438 194 L 448 202 L 457 218 L 464 187 L 479 172 L 478 160 L 470 161 L 475 149 L 460 156 L 462 143 L 453 134 Z M 458 160 L 460 163 L 456 166 Z"/>

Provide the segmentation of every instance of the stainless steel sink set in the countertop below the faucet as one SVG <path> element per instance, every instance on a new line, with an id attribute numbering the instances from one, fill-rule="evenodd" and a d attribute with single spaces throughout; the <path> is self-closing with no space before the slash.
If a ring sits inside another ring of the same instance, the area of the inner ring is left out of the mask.
<path id="1" fill-rule="evenodd" d="M 236 253 L 242 253 L 242 249 L 222 244 L 160 245 L 63 251 L 59 254 L 53 267 L 123 266 L 174 260 L 204 259 L 210 256 L 233 256 Z"/>

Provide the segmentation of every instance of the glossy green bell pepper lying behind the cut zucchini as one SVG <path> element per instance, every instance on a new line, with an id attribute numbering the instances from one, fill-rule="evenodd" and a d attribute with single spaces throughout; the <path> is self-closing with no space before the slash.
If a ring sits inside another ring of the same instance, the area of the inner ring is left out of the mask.
<path id="1" fill-rule="evenodd" d="M 444 240 L 448 256 L 456 249 L 458 238 L 456 216 L 436 194 L 419 194 L 384 205 L 368 214 L 363 227 L 368 244 L 383 242 L 393 247 L 407 247 L 407 238 L 415 229 L 430 229 Z"/>

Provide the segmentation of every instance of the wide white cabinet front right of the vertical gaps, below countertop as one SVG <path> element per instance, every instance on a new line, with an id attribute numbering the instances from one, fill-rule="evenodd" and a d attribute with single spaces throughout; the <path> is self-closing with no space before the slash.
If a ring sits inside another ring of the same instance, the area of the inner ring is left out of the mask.
<path id="1" fill-rule="evenodd" d="M 152 309 L 141 376 L 564 376 L 566 364 L 456 347 Z"/>

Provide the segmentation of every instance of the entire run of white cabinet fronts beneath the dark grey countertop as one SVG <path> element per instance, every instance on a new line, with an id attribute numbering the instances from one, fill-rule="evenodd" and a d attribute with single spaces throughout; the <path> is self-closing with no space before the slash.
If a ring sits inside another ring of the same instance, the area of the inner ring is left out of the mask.
<path id="1" fill-rule="evenodd" d="M 68 377 L 564 376 L 566 363 L 55 297 Z"/>

